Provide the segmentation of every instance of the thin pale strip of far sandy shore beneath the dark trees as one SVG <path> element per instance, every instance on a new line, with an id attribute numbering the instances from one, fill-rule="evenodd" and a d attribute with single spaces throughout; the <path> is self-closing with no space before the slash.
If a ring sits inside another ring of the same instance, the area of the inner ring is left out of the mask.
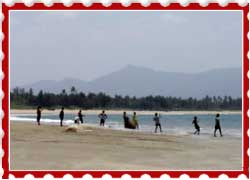
<path id="1" fill-rule="evenodd" d="M 65 114 L 77 114 L 79 109 L 64 109 Z M 99 114 L 101 113 L 102 110 L 82 110 L 83 114 Z M 162 115 L 215 115 L 217 113 L 220 114 L 242 114 L 242 111 L 238 110 L 221 110 L 221 111 L 149 111 L 149 110 L 105 110 L 106 114 L 111 114 L 111 115 L 120 115 L 124 111 L 127 112 L 127 114 L 132 114 L 133 112 L 136 112 L 138 115 L 151 115 L 154 114 L 155 112 L 158 112 L 159 114 Z M 60 109 L 55 109 L 55 110 L 47 110 L 44 109 L 42 111 L 43 114 L 49 114 L 49 115 L 58 115 L 60 112 Z M 10 114 L 36 114 L 36 109 L 10 109 Z"/>

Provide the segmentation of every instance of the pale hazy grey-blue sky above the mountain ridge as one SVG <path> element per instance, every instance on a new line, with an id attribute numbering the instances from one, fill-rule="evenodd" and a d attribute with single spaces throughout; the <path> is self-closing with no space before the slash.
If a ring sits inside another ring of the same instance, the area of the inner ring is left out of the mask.
<path id="1" fill-rule="evenodd" d="M 171 72 L 240 67 L 239 11 L 12 11 L 11 86 L 92 80 L 127 64 Z"/>

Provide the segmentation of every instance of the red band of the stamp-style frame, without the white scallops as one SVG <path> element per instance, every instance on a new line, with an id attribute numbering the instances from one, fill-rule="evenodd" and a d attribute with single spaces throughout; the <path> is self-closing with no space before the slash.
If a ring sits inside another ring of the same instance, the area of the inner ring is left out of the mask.
<path id="1" fill-rule="evenodd" d="M 241 10 L 243 12 L 243 170 L 239 171 L 14 171 L 9 169 L 9 11 L 10 10 Z M 161 6 L 159 3 L 152 3 L 148 7 L 142 6 L 140 3 L 132 3 L 129 7 L 124 7 L 120 3 L 112 3 L 110 6 L 105 7 L 101 3 L 94 3 L 90 7 L 86 7 L 81 3 L 75 3 L 70 7 L 65 7 L 61 3 L 54 3 L 52 6 L 47 7 L 43 3 L 35 3 L 31 7 L 26 7 L 23 3 L 16 3 L 12 7 L 8 7 L 5 4 L 2 6 L 2 12 L 4 14 L 4 20 L 2 23 L 4 39 L 2 42 L 4 59 L 2 61 L 2 68 L 4 73 L 4 79 L 2 81 L 2 88 L 4 97 L 2 100 L 4 117 L 2 121 L 2 127 L 4 130 L 4 136 L 2 141 L 2 147 L 4 155 L 2 158 L 2 167 L 4 169 L 3 178 L 8 179 L 12 174 L 16 178 L 24 177 L 27 174 L 33 174 L 34 177 L 44 177 L 46 174 L 51 174 L 55 178 L 61 178 L 66 174 L 71 174 L 75 178 L 81 178 L 85 174 L 91 174 L 95 178 L 100 178 L 104 174 L 109 174 L 113 178 L 119 178 L 124 174 L 129 174 L 131 177 L 139 178 L 143 174 L 148 174 L 152 178 L 158 178 L 163 174 L 168 174 L 170 177 L 178 178 L 182 174 L 187 174 L 190 177 L 199 177 L 202 174 L 207 174 L 211 178 L 226 174 L 229 177 L 236 178 L 241 174 L 245 174 L 249 178 L 249 156 L 247 150 L 249 147 L 249 137 L 247 131 L 249 128 L 249 119 L 247 111 L 249 109 L 249 99 L 247 97 L 247 91 L 249 89 L 249 79 L 247 72 L 249 70 L 249 62 L 247 53 L 249 50 L 249 40 L 247 33 L 249 31 L 249 21 L 247 14 L 249 11 L 249 5 L 240 7 L 236 3 L 229 3 L 226 7 L 221 7 L 218 3 L 210 3 L 206 7 L 201 7 L 198 3 L 190 3 L 187 7 L 182 7 L 179 3 L 171 3 L 167 7 Z"/>

